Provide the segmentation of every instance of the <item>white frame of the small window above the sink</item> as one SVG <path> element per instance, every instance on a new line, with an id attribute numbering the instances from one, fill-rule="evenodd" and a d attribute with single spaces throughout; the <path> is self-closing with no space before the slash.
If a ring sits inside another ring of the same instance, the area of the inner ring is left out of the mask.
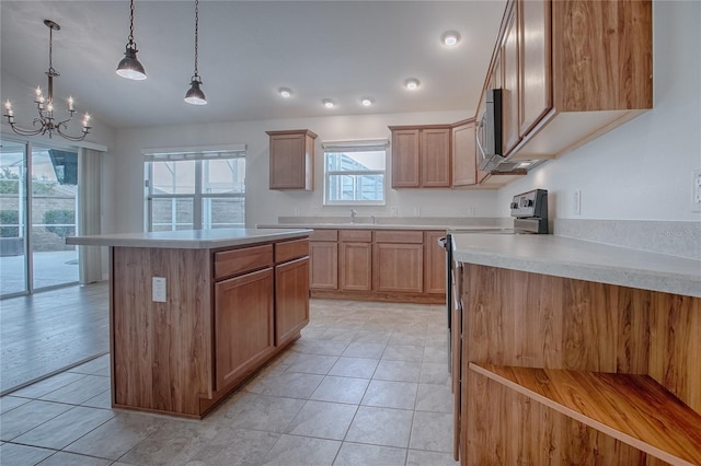
<path id="1" fill-rule="evenodd" d="M 387 159 L 389 140 L 387 139 L 371 139 L 371 140 L 358 140 L 358 141 L 324 141 L 322 142 L 323 149 L 323 165 L 324 165 L 324 193 L 323 193 L 323 206 L 386 206 L 387 205 Z M 326 155 L 329 153 L 340 152 L 384 152 L 383 170 L 347 170 L 347 171 L 330 171 L 327 170 Z M 381 200 L 331 200 L 331 177 L 348 175 L 348 176 L 367 176 L 367 175 L 382 175 L 382 199 Z"/>

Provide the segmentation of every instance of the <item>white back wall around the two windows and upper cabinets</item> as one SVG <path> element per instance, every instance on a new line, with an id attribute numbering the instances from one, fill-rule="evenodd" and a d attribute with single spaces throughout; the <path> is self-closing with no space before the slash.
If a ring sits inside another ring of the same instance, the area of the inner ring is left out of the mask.
<path id="1" fill-rule="evenodd" d="M 322 118 L 277 119 L 220 123 L 176 127 L 123 129 L 116 150 L 108 158 L 108 172 L 116 179 L 113 232 L 135 232 L 143 228 L 142 150 L 246 144 L 246 224 L 276 223 L 279 215 L 348 215 L 347 207 L 323 207 L 323 140 L 390 138 L 389 125 L 453 123 L 467 113 L 422 113 L 371 116 L 333 116 Z M 273 191 L 268 189 L 268 136 L 266 130 L 310 129 L 317 135 L 314 190 Z M 390 149 L 391 152 L 391 149 Z M 389 167 L 389 163 L 388 163 Z M 387 183 L 391 180 L 388 173 Z M 400 217 L 413 217 L 418 207 L 422 217 L 493 217 L 496 191 L 451 189 L 387 189 L 387 206 L 359 207 L 358 215 L 389 217 L 390 207 Z"/>

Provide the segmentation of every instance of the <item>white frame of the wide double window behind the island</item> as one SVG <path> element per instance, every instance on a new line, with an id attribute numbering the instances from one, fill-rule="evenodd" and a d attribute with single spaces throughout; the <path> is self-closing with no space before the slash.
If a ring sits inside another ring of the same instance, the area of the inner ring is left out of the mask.
<path id="1" fill-rule="evenodd" d="M 143 209 L 143 223 L 149 232 L 153 231 L 153 200 L 157 199 L 192 199 L 193 201 L 193 219 L 192 229 L 203 230 L 205 229 L 203 211 L 203 205 L 205 199 L 242 199 L 243 200 L 243 221 L 241 223 L 233 224 L 226 228 L 245 228 L 245 145 L 235 145 L 233 148 L 209 148 L 199 150 L 151 150 L 145 152 L 145 200 L 146 208 Z M 211 193 L 207 194 L 203 191 L 203 171 L 204 163 L 212 160 L 238 160 L 244 161 L 244 175 L 243 175 L 243 189 L 238 193 Z M 194 173 L 194 193 L 192 194 L 154 194 L 153 184 L 153 163 L 154 162 L 195 162 Z M 209 221 L 210 222 L 210 221 Z M 177 225 L 177 223 L 175 223 Z M 214 230 L 214 229 L 212 229 Z M 162 230 L 161 230 L 162 231 Z M 172 231 L 172 230 L 171 230 Z"/>

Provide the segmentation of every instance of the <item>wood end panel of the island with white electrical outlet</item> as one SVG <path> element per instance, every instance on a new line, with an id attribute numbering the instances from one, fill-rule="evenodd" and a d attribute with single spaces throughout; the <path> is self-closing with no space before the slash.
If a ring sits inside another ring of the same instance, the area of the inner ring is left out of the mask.
<path id="1" fill-rule="evenodd" d="M 211 396 L 209 252 L 112 248 L 112 396 L 116 407 L 199 416 Z M 166 302 L 151 278 L 166 279 Z"/>

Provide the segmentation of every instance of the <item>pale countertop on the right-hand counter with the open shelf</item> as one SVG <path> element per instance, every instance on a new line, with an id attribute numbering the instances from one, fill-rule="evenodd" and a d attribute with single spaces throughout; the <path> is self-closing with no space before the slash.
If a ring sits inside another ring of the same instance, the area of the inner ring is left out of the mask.
<path id="1" fill-rule="evenodd" d="M 457 233 L 453 258 L 701 298 L 701 260 L 539 234 Z"/>

